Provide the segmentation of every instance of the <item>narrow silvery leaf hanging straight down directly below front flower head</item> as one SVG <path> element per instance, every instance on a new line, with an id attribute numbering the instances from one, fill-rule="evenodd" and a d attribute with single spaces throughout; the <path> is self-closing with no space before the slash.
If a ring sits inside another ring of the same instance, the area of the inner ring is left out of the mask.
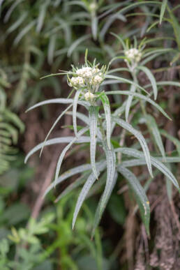
<path id="1" fill-rule="evenodd" d="M 89 107 L 89 130 L 90 130 L 90 156 L 93 173 L 98 179 L 96 171 L 96 142 L 97 142 L 97 131 L 98 131 L 98 106 Z"/>

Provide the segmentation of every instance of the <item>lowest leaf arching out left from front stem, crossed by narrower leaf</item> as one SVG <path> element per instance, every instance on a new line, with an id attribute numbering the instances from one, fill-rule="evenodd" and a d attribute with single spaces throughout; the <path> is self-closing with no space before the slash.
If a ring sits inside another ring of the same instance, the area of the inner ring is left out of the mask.
<path id="1" fill-rule="evenodd" d="M 91 170 L 91 164 L 85 164 L 74 167 L 73 169 L 63 172 L 63 174 L 61 174 L 61 176 L 57 179 L 57 184 L 63 182 L 64 180 L 68 179 L 69 177 L 72 177 L 75 174 L 80 174 L 88 170 Z M 54 188 L 54 182 L 52 182 L 50 186 L 48 186 L 48 188 L 45 190 L 44 197 L 45 195 L 47 195 L 47 193 L 50 192 L 50 190 L 52 190 L 52 188 Z"/>

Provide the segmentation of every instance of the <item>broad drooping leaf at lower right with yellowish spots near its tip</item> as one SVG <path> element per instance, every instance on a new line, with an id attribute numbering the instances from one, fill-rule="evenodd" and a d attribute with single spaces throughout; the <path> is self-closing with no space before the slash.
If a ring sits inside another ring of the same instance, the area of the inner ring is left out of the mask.
<path id="1" fill-rule="evenodd" d="M 142 188 L 142 186 L 140 185 L 140 181 L 137 179 L 137 177 L 135 177 L 135 174 L 133 174 L 133 172 L 130 172 L 130 170 L 126 169 L 121 165 L 117 167 L 117 170 L 120 172 L 120 174 L 123 175 L 123 177 L 126 178 L 126 180 L 128 181 L 128 185 L 133 190 L 133 193 L 137 200 L 137 204 L 140 208 L 142 221 L 147 230 L 147 234 L 149 234 L 150 207 L 149 200 L 147 199 L 144 188 Z"/>

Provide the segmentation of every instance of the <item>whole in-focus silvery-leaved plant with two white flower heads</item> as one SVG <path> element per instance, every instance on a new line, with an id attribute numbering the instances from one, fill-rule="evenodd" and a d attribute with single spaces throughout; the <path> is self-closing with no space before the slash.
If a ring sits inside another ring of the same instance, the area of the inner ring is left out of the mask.
<path id="1" fill-rule="evenodd" d="M 119 38 L 119 37 L 118 37 Z M 120 38 L 121 40 L 121 38 Z M 63 103 L 70 104 L 66 110 L 64 110 L 58 117 L 58 119 L 54 122 L 52 128 L 54 128 L 55 124 L 61 119 L 63 114 L 71 114 L 73 116 L 73 129 L 75 133 L 75 137 L 60 137 L 54 138 L 51 140 L 45 139 L 45 142 L 38 144 L 35 148 L 33 148 L 29 154 L 27 155 L 26 161 L 34 152 L 39 149 L 43 149 L 45 145 L 50 144 L 59 144 L 62 142 L 68 143 L 68 145 L 63 149 L 61 155 L 59 156 L 59 160 L 57 163 L 57 170 L 55 174 L 54 182 L 47 188 L 45 194 L 47 194 L 54 186 L 61 183 L 62 181 L 68 179 L 74 174 L 82 173 L 82 177 L 77 179 L 75 183 L 73 183 L 73 187 L 67 188 L 67 190 L 73 190 L 76 186 L 84 183 L 84 186 L 80 192 L 80 195 L 77 200 L 77 204 L 75 206 L 75 211 L 73 215 L 73 227 L 75 226 L 75 221 L 77 219 L 77 215 L 82 207 L 82 203 L 84 202 L 87 194 L 89 193 L 90 188 L 93 184 L 101 181 L 101 176 L 103 172 L 106 172 L 106 183 L 105 190 L 103 195 L 100 198 L 100 202 L 96 209 L 95 220 L 93 224 L 93 232 L 92 236 L 95 233 L 95 229 L 100 222 L 100 218 L 103 215 L 103 211 L 107 205 L 107 202 L 110 198 L 114 185 L 117 182 L 118 174 L 121 174 L 128 181 L 128 185 L 133 190 L 135 198 L 137 200 L 137 204 L 140 208 L 140 213 L 142 216 L 142 220 L 146 227 L 147 233 L 149 234 L 149 218 L 150 218 L 150 207 L 149 200 L 144 191 L 144 188 L 141 186 L 140 181 L 137 179 L 135 174 L 129 170 L 128 167 L 137 166 L 137 165 L 147 165 L 149 170 L 149 174 L 153 177 L 152 165 L 160 172 L 163 172 L 168 180 L 170 180 L 174 186 L 179 189 L 179 184 L 177 179 L 175 179 L 174 175 L 167 166 L 163 163 L 170 163 L 179 161 L 179 158 L 170 158 L 165 156 L 165 151 L 163 148 L 163 142 L 160 137 L 160 133 L 158 130 L 158 126 L 156 124 L 156 120 L 153 118 L 151 114 L 147 114 L 146 112 L 146 103 L 150 103 L 153 105 L 153 110 L 157 112 L 161 112 L 165 117 L 170 119 L 167 113 L 151 98 L 151 92 L 147 92 L 147 88 L 151 87 L 153 91 L 153 96 L 156 98 L 158 94 L 158 86 L 162 84 L 174 84 L 174 82 L 160 82 L 157 83 L 155 78 L 153 77 L 151 71 L 145 67 L 142 63 L 144 59 L 147 59 L 149 53 L 144 52 L 143 50 L 137 50 L 137 48 L 129 48 L 125 45 L 123 40 L 121 40 L 123 45 L 123 55 L 119 57 L 115 57 L 112 59 L 114 61 L 118 58 L 123 58 L 127 63 L 128 71 L 133 77 L 133 81 L 127 80 L 123 77 L 119 77 L 117 75 L 111 75 L 114 71 L 110 70 L 110 65 L 108 68 L 102 66 L 101 68 L 96 63 L 96 60 L 91 64 L 87 60 L 87 52 L 85 54 L 84 66 L 81 68 L 75 68 L 70 72 L 62 72 L 59 75 L 67 75 L 68 84 L 75 91 L 74 98 L 57 98 L 52 100 L 45 100 L 41 103 L 38 103 L 31 107 L 29 110 L 32 110 L 40 105 L 50 104 L 50 103 Z M 142 44 L 141 44 L 142 45 Z M 153 50 L 150 51 L 150 54 L 153 54 Z M 155 54 L 155 52 L 154 52 Z M 110 64 L 112 63 L 110 62 Z M 141 87 L 138 80 L 137 74 L 142 70 L 151 84 L 148 84 L 146 87 Z M 130 91 L 103 91 L 103 85 L 118 83 L 118 82 L 126 82 L 130 84 Z M 176 84 L 179 84 L 178 82 Z M 137 93 L 136 93 L 137 91 Z M 144 95 L 146 93 L 146 95 Z M 72 94 L 72 91 L 70 95 Z M 117 110 L 112 112 L 110 100 L 108 98 L 109 95 L 126 95 L 128 99 L 121 104 Z M 130 113 L 131 108 L 133 107 L 132 101 L 135 99 L 135 103 L 137 104 L 140 100 L 140 108 L 142 110 L 142 119 L 147 123 L 147 126 L 151 128 L 153 133 L 153 139 L 155 140 L 155 144 L 162 156 L 151 156 L 149 152 L 149 148 L 147 146 L 147 142 L 144 139 L 144 136 L 137 128 L 134 128 L 130 124 L 130 119 L 133 119 L 133 113 Z M 101 104 L 103 105 L 103 111 L 101 110 Z M 77 112 L 77 105 L 84 106 L 89 116 L 85 116 Z M 73 108 L 72 112 L 68 112 L 70 108 Z M 122 119 L 123 112 L 126 114 L 126 121 Z M 84 121 L 85 126 L 78 126 L 77 128 L 77 118 Z M 142 151 L 135 149 L 135 147 L 124 147 L 124 136 L 126 133 L 122 131 L 120 135 L 120 142 L 118 142 L 113 137 L 113 131 L 116 126 L 120 126 L 123 130 L 126 130 L 128 133 L 131 133 L 135 136 L 137 141 L 139 142 L 139 147 L 142 148 Z M 50 131 L 52 131 L 52 128 Z M 50 133 L 48 133 L 50 135 Z M 61 164 L 63 162 L 63 157 L 66 152 L 70 149 L 73 144 L 87 144 L 90 143 L 90 157 L 91 164 L 84 164 L 78 167 L 75 167 L 63 174 L 59 177 L 59 173 L 61 171 Z M 96 158 L 96 149 L 98 147 L 103 149 L 103 153 L 98 154 Z M 130 159 L 126 159 L 124 156 L 130 157 Z M 135 158 L 135 159 L 132 159 Z M 87 172 L 86 176 L 84 176 L 84 172 Z M 61 195 L 60 195 L 61 197 Z M 60 198 L 59 197 L 59 198 Z"/>

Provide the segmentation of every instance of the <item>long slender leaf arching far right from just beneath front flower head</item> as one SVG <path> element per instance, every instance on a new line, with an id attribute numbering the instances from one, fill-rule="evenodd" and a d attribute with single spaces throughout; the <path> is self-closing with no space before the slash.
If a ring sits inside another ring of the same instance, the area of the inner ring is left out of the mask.
<path id="1" fill-rule="evenodd" d="M 147 98 L 147 96 L 143 96 L 140 93 L 130 93 L 130 91 L 108 91 L 105 92 L 106 95 L 126 95 L 126 96 L 136 96 L 137 98 L 140 98 L 142 100 L 145 100 L 149 103 L 151 103 L 154 107 L 156 107 L 162 114 L 167 117 L 168 119 L 172 120 L 167 113 L 160 107 L 156 102 L 151 100 L 151 98 Z"/>

